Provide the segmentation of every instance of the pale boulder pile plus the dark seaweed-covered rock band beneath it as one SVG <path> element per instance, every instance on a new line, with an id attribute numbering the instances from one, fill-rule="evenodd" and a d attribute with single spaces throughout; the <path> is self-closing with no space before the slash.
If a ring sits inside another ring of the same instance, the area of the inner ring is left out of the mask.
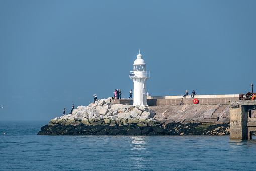
<path id="1" fill-rule="evenodd" d="M 78 106 L 73 114 L 56 117 L 38 135 L 229 135 L 229 123 L 165 123 L 145 106 L 113 104 L 108 99 Z"/>

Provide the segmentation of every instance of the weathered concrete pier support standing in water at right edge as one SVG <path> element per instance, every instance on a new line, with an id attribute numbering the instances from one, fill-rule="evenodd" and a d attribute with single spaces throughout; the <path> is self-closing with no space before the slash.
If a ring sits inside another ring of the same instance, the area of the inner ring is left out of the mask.
<path id="1" fill-rule="evenodd" d="M 251 118 L 255 109 L 256 100 L 230 101 L 230 139 L 251 139 L 251 131 L 256 131 L 256 118 Z"/>

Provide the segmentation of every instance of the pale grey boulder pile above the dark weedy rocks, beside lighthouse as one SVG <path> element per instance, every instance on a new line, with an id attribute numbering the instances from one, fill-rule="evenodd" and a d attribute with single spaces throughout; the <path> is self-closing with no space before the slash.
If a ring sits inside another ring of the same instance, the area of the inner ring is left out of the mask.
<path id="1" fill-rule="evenodd" d="M 73 110 L 72 115 L 64 115 L 56 117 L 49 122 L 49 125 L 78 125 L 83 123 L 85 125 L 104 120 L 105 123 L 111 121 L 121 122 L 122 125 L 127 123 L 138 122 L 154 122 L 153 116 L 155 112 L 145 106 L 132 106 L 123 104 L 111 103 L 111 97 L 101 99 L 89 106 L 78 106 Z"/>

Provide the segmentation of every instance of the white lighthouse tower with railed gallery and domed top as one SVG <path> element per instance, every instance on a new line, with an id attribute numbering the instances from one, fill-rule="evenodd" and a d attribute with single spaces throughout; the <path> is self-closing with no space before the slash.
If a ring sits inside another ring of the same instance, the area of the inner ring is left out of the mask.
<path id="1" fill-rule="evenodd" d="M 150 78 L 149 71 L 146 71 L 146 63 L 142 55 L 137 55 L 133 63 L 133 71 L 130 71 L 130 78 L 133 80 L 133 106 L 147 106 L 146 82 Z"/>

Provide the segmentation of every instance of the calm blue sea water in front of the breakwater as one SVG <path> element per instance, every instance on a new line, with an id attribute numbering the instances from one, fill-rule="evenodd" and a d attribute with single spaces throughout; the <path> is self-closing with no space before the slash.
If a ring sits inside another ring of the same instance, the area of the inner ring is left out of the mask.
<path id="1" fill-rule="evenodd" d="M 37 135 L 46 124 L 0 122 L 0 170 L 256 169 L 255 139 Z"/>

